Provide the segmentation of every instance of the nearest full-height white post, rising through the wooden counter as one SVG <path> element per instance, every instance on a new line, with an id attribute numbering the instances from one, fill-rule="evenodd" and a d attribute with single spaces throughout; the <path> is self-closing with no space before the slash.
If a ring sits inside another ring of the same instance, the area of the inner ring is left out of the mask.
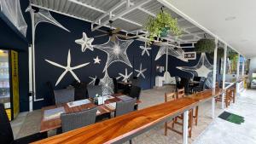
<path id="1" fill-rule="evenodd" d="M 215 37 L 215 49 L 213 59 L 213 78 L 212 78 L 212 89 L 215 89 L 216 84 L 216 72 L 217 72 L 217 52 L 218 52 L 218 38 Z M 215 98 L 212 98 L 212 118 L 215 115 Z"/>

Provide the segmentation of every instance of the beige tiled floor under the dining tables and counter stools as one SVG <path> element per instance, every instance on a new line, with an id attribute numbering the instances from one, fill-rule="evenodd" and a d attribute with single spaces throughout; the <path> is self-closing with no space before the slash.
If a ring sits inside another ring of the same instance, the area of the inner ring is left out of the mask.
<path id="1" fill-rule="evenodd" d="M 158 88 L 158 89 L 144 90 L 141 95 L 141 100 L 143 102 L 139 105 L 139 109 L 144 107 L 154 106 L 156 104 L 164 102 L 165 92 L 172 91 L 172 90 L 173 90 L 172 86 L 165 86 L 163 88 Z M 256 94 L 256 91 L 253 91 L 253 92 L 254 94 Z M 245 97 L 245 99 L 247 99 L 247 97 Z M 242 100 L 238 100 L 238 101 L 242 101 Z M 220 103 L 217 103 L 217 107 L 215 110 L 216 116 L 218 116 L 218 114 L 220 114 L 221 112 L 223 112 L 223 110 L 220 109 Z M 194 125 L 192 130 L 192 137 L 189 138 L 189 143 L 192 143 L 192 141 L 195 141 L 199 135 L 204 135 L 204 133 L 203 134 L 201 133 L 204 130 L 207 130 L 207 127 L 210 124 L 212 124 L 212 118 L 210 118 L 210 116 L 211 116 L 211 101 L 207 101 L 199 107 L 198 125 L 197 126 Z M 15 137 L 18 138 L 18 137 L 22 137 L 25 135 L 38 132 L 40 118 L 41 118 L 41 112 L 39 110 L 29 112 L 29 113 L 27 112 L 21 113 L 20 116 L 17 119 L 15 119 L 15 121 L 12 122 Z M 174 144 L 175 143 L 176 144 L 176 143 L 182 143 L 183 142 L 182 140 L 183 140 L 182 135 L 178 135 L 177 133 L 174 133 L 172 131 L 168 131 L 168 135 L 165 136 L 163 125 L 159 125 L 152 130 L 148 130 L 142 135 L 138 135 L 132 141 L 135 144 L 143 144 L 143 143 L 145 144 L 150 144 L 150 143 L 154 143 L 154 144 L 164 144 L 164 143 L 172 144 L 173 143 Z"/>

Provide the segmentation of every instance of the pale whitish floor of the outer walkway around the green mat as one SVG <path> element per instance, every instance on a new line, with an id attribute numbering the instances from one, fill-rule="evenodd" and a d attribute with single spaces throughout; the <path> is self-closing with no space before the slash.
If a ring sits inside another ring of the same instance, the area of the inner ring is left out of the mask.
<path id="1" fill-rule="evenodd" d="M 247 90 L 237 96 L 235 104 L 225 109 L 227 112 L 244 117 L 244 123 L 233 124 L 221 118 L 215 118 L 194 144 L 256 144 L 255 94 L 256 90 Z"/>

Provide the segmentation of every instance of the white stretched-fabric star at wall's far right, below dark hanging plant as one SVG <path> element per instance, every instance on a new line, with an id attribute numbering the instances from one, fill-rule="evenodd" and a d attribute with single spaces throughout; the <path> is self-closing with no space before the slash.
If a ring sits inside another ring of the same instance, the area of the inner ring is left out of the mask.
<path id="1" fill-rule="evenodd" d="M 201 53 L 201 57 L 195 66 L 177 66 L 177 68 L 185 72 L 190 72 L 193 77 L 197 76 L 207 78 L 207 86 L 212 87 L 211 72 L 213 70 L 213 66 L 207 59 L 206 53 Z"/>

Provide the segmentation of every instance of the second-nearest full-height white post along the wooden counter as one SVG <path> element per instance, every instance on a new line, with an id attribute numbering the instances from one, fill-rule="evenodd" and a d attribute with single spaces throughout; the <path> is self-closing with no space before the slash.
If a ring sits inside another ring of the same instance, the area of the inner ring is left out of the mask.
<path id="1" fill-rule="evenodd" d="M 222 89 L 225 89 L 225 81 L 226 81 L 226 68 L 227 68 L 227 43 L 224 44 L 224 65 L 223 65 L 223 75 L 222 75 Z M 222 101 L 221 101 L 221 108 L 224 109 L 224 96 L 225 93 L 222 95 Z"/>

